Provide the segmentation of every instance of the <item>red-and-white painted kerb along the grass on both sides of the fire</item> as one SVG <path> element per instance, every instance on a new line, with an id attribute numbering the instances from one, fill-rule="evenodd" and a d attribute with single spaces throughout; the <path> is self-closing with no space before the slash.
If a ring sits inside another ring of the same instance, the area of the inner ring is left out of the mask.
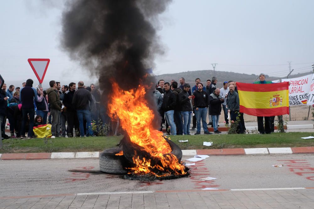
<path id="1" fill-rule="evenodd" d="M 53 152 L 53 153 L 4 153 L 2 160 L 12 159 L 71 159 L 71 158 L 99 158 L 100 152 Z M 236 148 L 236 149 L 187 149 L 183 155 L 242 155 L 242 154 L 296 154 L 314 153 L 314 147 L 278 147 L 278 148 Z"/>

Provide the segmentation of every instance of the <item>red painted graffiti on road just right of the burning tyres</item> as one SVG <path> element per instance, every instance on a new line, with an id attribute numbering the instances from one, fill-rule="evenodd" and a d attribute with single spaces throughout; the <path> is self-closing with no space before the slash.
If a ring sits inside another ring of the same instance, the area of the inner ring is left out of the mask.
<path id="1" fill-rule="evenodd" d="M 196 162 L 195 167 L 190 168 L 191 179 L 195 186 L 194 189 L 204 189 L 207 187 L 220 186 L 220 185 L 214 184 L 214 180 L 210 180 L 210 181 L 199 180 L 200 178 L 208 177 L 210 175 L 208 168 L 203 167 L 203 166 L 205 166 L 205 163 Z"/>

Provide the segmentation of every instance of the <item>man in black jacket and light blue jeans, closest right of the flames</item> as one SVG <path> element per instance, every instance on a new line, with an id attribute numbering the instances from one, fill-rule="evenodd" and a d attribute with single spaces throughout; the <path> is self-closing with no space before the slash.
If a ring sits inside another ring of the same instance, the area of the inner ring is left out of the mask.
<path id="1" fill-rule="evenodd" d="M 162 102 L 162 108 L 165 112 L 166 120 L 170 125 L 171 135 L 176 135 L 176 125 L 173 119 L 174 109 L 176 107 L 176 95 L 170 89 L 170 83 L 165 83 L 164 101 Z M 168 127 L 166 127 L 168 128 Z"/>

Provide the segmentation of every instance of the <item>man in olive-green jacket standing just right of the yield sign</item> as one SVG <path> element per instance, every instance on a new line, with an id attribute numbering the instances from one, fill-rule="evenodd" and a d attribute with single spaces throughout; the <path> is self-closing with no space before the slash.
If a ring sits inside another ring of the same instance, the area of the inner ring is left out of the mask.
<path id="1" fill-rule="evenodd" d="M 50 88 L 46 90 L 48 94 L 48 100 L 50 103 L 50 114 L 52 116 L 51 121 L 51 135 L 60 137 L 60 112 L 62 112 L 62 104 L 60 101 L 59 93 L 57 91 L 56 81 L 49 82 Z"/>

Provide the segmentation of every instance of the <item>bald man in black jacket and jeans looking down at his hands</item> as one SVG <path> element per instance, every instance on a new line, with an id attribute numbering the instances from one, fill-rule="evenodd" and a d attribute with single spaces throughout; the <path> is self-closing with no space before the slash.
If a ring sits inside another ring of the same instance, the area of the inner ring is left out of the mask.
<path id="1" fill-rule="evenodd" d="M 213 118 L 214 133 L 221 133 L 218 131 L 218 122 L 222 103 L 224 103 L 224 99 L 220 96 L 220 89 L 216 88 L 214 92 L 209 95 L 209 110 Z"/>

